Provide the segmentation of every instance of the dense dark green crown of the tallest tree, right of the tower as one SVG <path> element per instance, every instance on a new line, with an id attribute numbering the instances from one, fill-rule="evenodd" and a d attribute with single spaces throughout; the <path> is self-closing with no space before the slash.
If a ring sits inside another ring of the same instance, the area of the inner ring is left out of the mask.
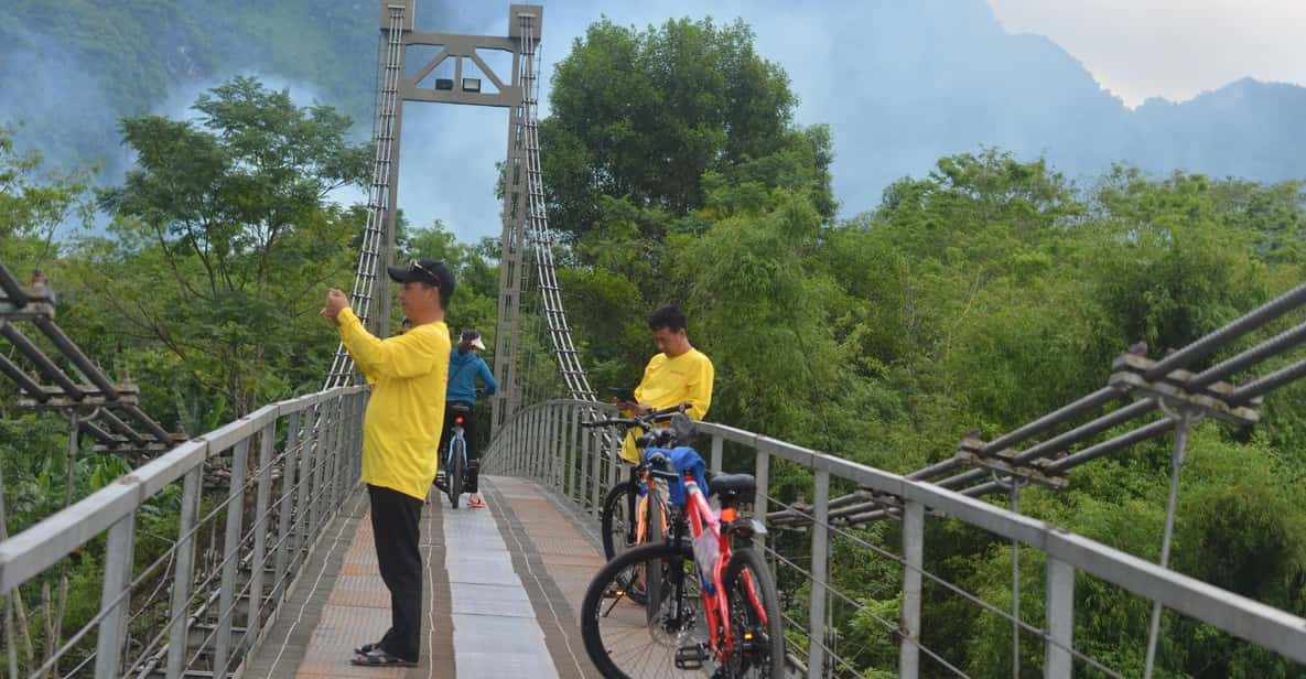
<path id="1" fill-rule="evenodd" d="M 710 20 L 592 24 L 558 64 L 549 101 L 550 214 L 569 234 L 590 227 L 601 196 L 677 215 L 701 206 L 704 172 L 785 148 L 797 103 L 747 24 Z"/>

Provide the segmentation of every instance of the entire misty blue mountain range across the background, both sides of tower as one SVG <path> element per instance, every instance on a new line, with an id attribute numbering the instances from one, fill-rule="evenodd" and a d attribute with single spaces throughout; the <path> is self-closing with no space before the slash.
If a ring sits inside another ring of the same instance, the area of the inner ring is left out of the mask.
<path id="1" fill-rule="evenodd" d="M 505 5 L 419 0 L 418 22 L 496 34 L 505 27 Z M 1152 99 L 1130 110 L 1047 38 L 1006 33 L 985 0 L 551 3 L 546 77 L 601 13 L 639 26 L 742 14 L 757 30 L 757 48 L 793 78 L 799 120 L 831 124 L 845 215 L 875 208 L 893 180 L 980 146 L 1045 155 L 1084 180 L 1113 162 L 1156 175 L 1182 168 L 1267 182 L 1306 178 L 1306 87 L 1241 80 L 1191 101 Z M 63 167 L 106 163 L 103 179 L 116 182 L 129 163 L 119 116 L 184 115 L 204 89 L 256 73 L 290 87 L 299 103 L 341 108 L 366 136 L 377 17 L 375 0 L 8 0 L 0 9 L 0 124 L 22 123 L 20 145 L 44 150 Z M 498 137 L 475 140 L 500 134 L 500 123 L 439 120 L 439 131 L 405 131 L 405 138 L 474 171 L 432 180 L 447 202 L 431 215 L 414 209 L 414 218 L 498 232 L 491 183 L 503 145 Z M 411 172 L 427 167 L 402 167 L 401 192 L 405 182 L 426 179 Z M 483 206 L 453 200 L 482 193 Z"/>

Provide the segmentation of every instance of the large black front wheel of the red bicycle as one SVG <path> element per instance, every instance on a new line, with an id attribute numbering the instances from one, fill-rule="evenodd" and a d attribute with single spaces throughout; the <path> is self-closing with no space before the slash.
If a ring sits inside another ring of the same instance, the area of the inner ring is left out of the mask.
<path id="1" fill-rule="evenodd" d="M 656 565 L 650 567 L 649 564 Z M 707 629 L 701 614 L 703 599 L 699 593 L 697 568 L 693 565 L 693 548 L 690 546 L 690 542 L 677 541 L 641 545 L 618 555 L 616 559 L 603 565 L 598 571 L 598 575 L 590 580 L 589 588 L 585 590 L 585 598 L 581 602 L 581 641 L 585 645 L 585 653 L 589 655 L 590 662 L 594 663 L 594 667 L 603 676 L 610 679 L 645 678 L 653 676 L 654 667 L 666 670 L 673 666 L 671 658 L 679 646 L 666 644 L 667 639 L 660 639 L 670 636 L 673 632 L 661 625 L 660 620 L 654 620 L 653 623 L 648 620 L 646 605 L 640 606 L 640 608 L 623 606 L 620 599 L 624 598 L 624 594 L 618 592 L 614 597 L 613 588 L 618 585 L 623 572 L 640 567 L 645 571 L 666 569 L 671 581 L 675 582 L 677 578 L 671 575 L 671 569 L 677 568 L 675 564 L 680 564 L 680 575 L 683 576 L 683 580 L 679 581 L 684 585 L 679 589 L 680 599 L 693 611 L 692 624 L 686 633 L 699 637 L 705 644 Z M 639 602 L 632 599 L 632 603 Z M 673 610 L 674 603 L 674 601 L 663 602 L 661 611 L 667 612 Z M 609 622 L 606 627 L 602 625 L 605 620 Z M 640 628 L 644 628 L 648 633 L 648 640 L 643 639 Z M 605 629 L 611 635 L 607 641 L 605 641 Z M 645 645 L 640 645 L 641 641 Z M 677 641 L 680 641 L 679 636 Z M 607 648 L 609 645 L 611 648 Z M 654 653 L 641 650 L 650 646 L 654 648 Z M 614 653 L 616 657 L 614 657 Z M 665 653 L 666 655 L 660 655 L 660 653 Z M 683 672 L 678 671 L 677 674 Z"/>

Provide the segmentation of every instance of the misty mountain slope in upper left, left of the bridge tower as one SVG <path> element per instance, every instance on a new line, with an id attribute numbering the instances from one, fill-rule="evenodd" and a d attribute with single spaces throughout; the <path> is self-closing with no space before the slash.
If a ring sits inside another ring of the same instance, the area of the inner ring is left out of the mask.
<path id="1" fill-rule="evenodd" d="M 104 165 L 116 180 L 120 116 L 184 115 L 238 73 L 367 123 L 376 17 L 374 1 L 7 0 L 0 125 L 21 125 L 20 145 L 60 166 Z"/>

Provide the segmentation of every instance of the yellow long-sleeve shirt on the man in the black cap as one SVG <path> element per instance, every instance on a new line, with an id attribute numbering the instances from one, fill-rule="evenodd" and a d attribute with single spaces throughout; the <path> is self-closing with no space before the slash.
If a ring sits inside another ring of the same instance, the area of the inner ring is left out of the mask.
<path id="1" fill-rule="evenodd" d="M 349 308 L 340 338 L 372 383 L 363 418 L 363 483 L 424 499 L 435 479 L 449 377 L 449 328 L 427 323 L 377 340 Z"/>

